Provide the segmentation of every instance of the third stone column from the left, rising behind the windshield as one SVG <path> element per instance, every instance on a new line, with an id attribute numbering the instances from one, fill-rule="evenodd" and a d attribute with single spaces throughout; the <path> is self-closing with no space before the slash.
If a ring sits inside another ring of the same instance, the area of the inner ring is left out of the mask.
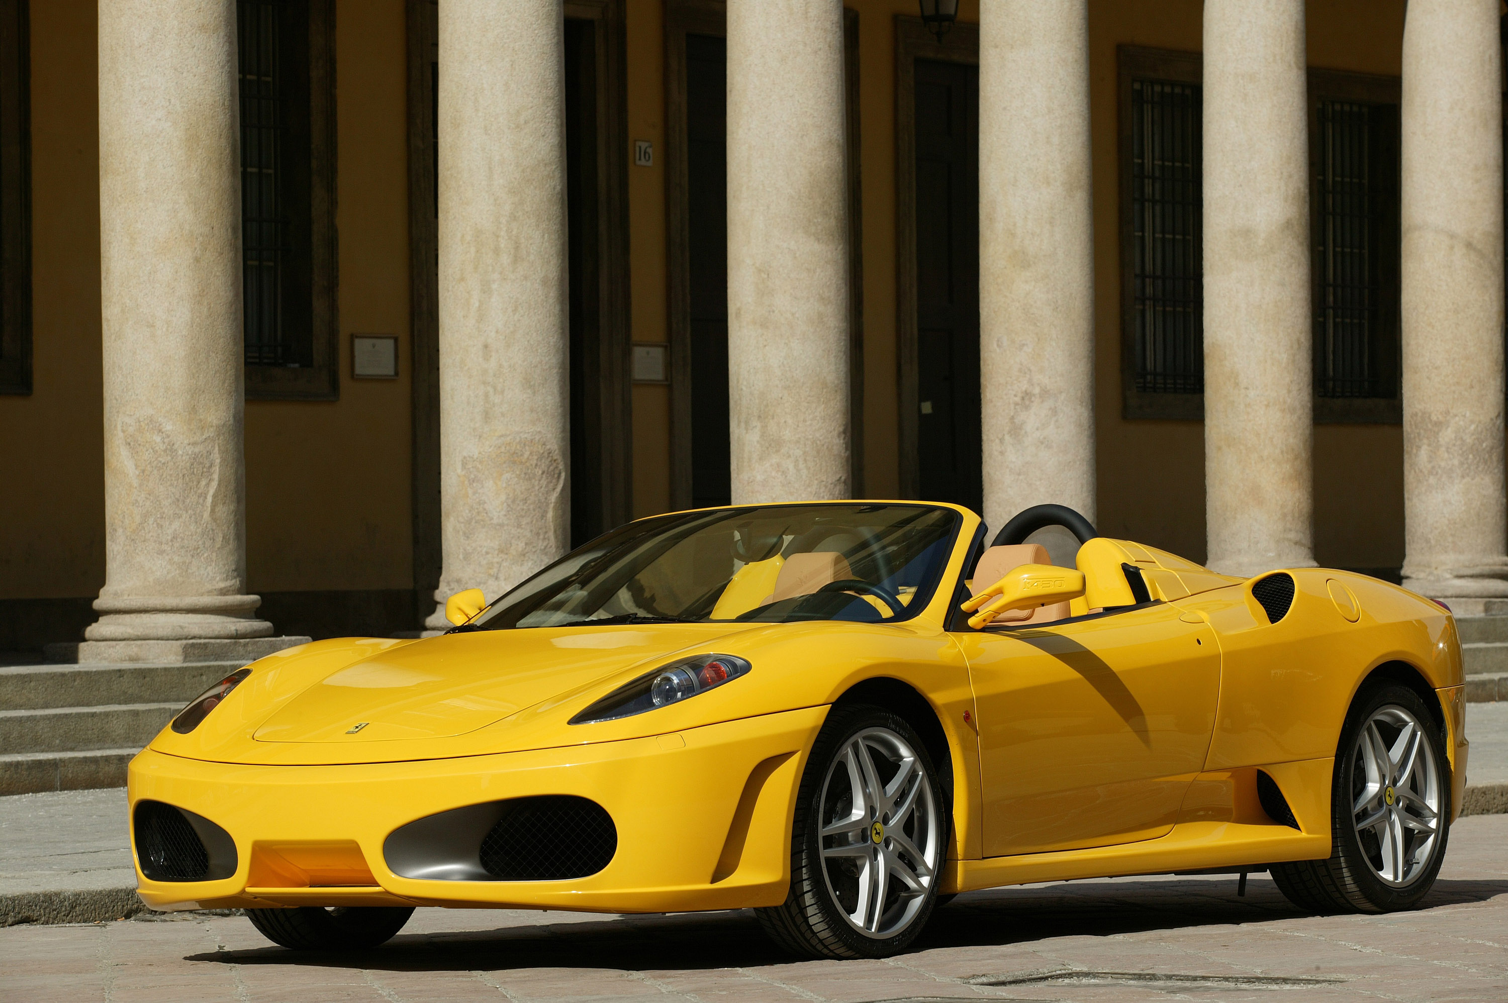
<path id="1" fill-rule="evenodd" d="M 728 0 L 733 501 L 849 495 L 841 0 Z"/>

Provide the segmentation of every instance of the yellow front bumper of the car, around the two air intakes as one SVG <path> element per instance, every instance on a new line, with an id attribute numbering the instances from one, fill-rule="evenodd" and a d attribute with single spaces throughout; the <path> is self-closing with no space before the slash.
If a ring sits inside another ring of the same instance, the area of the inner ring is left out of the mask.
<path id="1" fill-rule="evenodd" d="M 237 867 L 222 881 L 151 881 L 137 860 L 139 891 L 155 909 L 410 903 L 676 913 L 777 905 L 790 881 L 805 750 L 826 712 L 807 707 L 623 742 L 351 766 L 207 763 L 146 750 L 131 762 L 133 817 L 136 804 L 149 799 L 210 819 L 234 839 Z M 419 881 L 395 875 L 383 858 L 383 842 L 401 825 L 531 795 L 575 795 L 606 808 L 618 839 L 611 863 L 569 881 Z"/>

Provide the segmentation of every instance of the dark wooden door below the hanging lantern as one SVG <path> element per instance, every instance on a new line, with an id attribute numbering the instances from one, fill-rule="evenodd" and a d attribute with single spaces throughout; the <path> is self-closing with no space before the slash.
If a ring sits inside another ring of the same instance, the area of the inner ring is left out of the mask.
<path id="1" fill-rule="evenodd" d="M 915 63 L 918 498 L 980 511 L 979 68 Z"/>

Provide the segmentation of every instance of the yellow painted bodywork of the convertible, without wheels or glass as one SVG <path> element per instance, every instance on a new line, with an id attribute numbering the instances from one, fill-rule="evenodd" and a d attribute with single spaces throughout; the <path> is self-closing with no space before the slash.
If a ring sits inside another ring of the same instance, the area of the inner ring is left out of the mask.
<path id="1" fill-rule="evenodd" d="M 130 771 L 133 808 L 164 801 L 223 827 L 235 875 L 142 876 L 142 896 L 155 908 L 772 905 L 787 891 L 795 798 L 828 709 L 876 680 L 914 691 L 947 744 L 944 891 L 1327 855 L 1339 732 L 1357 688 L 1386 664 L 1437 694 L 1458 810 L 1460 643 L 1437 605 L 1365 576 L 1297 569 L 1292 608 L 1271 624 L 1249 582 L 1096 538 L 1080 552 L 1087 596 L 1072 618 L 974 630 L 955 605 L 979 519 L 958 511 L 941 584 L 896 623 L 339 640 L 255 662 L 196 730 L 164 728 Z M 1122 566 L 1142 572 L 1151 603 L 1126 605 Z M 716 609 L 762 603 L 778 570 L 778 558 L 745 566 Z M 700 653 L 752 670 L 694 700 L 569 724 L 629 680 Z M 1297 830 L 1262 811 L 1258 771 L 1277 783 Z M 401 825 L 538 793 L 608 810 L 618 851 L 605 870 L 522 882 L 388 867 L 383 842 Z"/>

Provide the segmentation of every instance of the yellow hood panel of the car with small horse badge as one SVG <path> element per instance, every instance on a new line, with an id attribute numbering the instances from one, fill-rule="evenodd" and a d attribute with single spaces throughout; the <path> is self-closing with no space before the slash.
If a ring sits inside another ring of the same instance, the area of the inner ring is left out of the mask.
<path id="1" fill-rule="evenodd" d="M 664 627 L 632 626 L 449 633 L 330 673 L 253 738 L 350 744 L 464 735 L 665 655 L 667 641 Z"/>

